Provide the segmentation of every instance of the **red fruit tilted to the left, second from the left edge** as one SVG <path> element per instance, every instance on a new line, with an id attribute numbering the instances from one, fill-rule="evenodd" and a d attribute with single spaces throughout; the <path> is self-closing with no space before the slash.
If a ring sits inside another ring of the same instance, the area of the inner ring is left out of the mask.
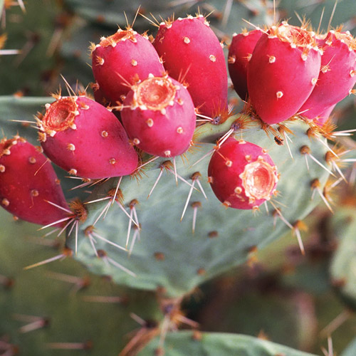
<path id="1" fill-rule="evenodd" d="M 131 174 L 137 153 L 117 117 L 85 96 L 58 98 L 38 120 L 46 155 L 70 174 L 90 179 Z"/>

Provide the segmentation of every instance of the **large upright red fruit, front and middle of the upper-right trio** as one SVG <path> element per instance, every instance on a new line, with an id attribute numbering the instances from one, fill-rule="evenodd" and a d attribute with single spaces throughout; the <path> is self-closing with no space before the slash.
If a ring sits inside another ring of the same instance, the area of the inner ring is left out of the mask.
<path id="1" fill-rule="evenodd" d="M 320 70 L 312 33 L 283 22 L 263 33 L 248 62 L 247 86 L 261 120 L 276 124 L 295 115 L 312 92 Z"/>

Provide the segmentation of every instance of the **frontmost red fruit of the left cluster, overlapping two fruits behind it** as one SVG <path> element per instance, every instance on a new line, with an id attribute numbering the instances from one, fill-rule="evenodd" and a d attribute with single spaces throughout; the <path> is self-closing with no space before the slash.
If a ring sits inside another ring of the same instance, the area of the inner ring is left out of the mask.
<path id="1" fill-rule="evenodd" d="M 152 75 L 133 86 L 121 117 L 132 142 L 160 157 L 182 155 L 191 144 L 196 126 L 188 90 L 168 75 Z"/>

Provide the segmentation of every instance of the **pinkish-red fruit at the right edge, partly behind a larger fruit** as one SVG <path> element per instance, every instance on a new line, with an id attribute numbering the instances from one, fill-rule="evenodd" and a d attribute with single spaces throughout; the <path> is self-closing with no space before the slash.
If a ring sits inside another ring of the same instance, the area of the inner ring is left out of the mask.
<path id="1" fill-rule="evenodd" d="M 318 41 L 323 48 L 318 82 L 300 111 L 314 119 L 350 94 L 356 83 L 356 42 L 349 32 L 329 31 Z"/>

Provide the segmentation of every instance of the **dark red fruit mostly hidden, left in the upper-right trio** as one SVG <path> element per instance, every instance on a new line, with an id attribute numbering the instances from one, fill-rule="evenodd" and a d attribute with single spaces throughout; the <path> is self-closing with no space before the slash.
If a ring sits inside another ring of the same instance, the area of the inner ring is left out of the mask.
<path id="1" fill-rule="evenodd" d="M 228 68 L 230 78 L 236 93 L 242 100 L 248 98 L 247 65 L 250 61 L 253 48 L 263 31 L 256 29 L 250 32 L 234 33 L 229 46 Z"/>

